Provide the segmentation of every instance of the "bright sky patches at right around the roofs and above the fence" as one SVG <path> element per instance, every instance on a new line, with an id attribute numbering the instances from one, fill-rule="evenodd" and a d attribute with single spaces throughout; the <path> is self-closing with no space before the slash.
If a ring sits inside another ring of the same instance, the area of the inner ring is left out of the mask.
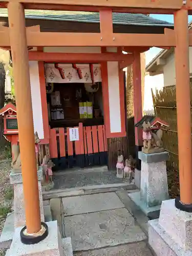
<path id="1" fill-rule="evenodd" d="M 174 23 L 173 15 L 166 14 L 150 14 L 151 17 L 156 19 L 165 20 L 170 23 Z M 191 22 L 192 16 L 189 16 L 189 22 Z M 162 49 L 153 47 L 145 53 L 146 65 L 160 52 Z M 145 76 L 145 92 L 144 92 L 144 110 L 153 109 L 153 99 L 151 89 L 155 92 L 156 89 L 160 90 L 163 87 L 163 75 L 157 76 Z"/>

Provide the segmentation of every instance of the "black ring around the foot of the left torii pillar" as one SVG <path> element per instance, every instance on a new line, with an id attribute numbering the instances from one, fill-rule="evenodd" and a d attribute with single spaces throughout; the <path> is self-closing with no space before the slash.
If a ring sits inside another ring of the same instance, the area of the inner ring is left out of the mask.
<path id="1" fill-rule="evenodd" d="M 24 231 L 26 231 L 27 227 L 23 227 L 22 230 L 20 230 L 20 241 L 22 241 L 23 244 L 37 244 L 40 241 L 44 240 L 48 236 L 48 226 L 46 223 L 41 222 L 41 226 L 45 228 L 44 232 L 40 231 L 39 236 L 38 234 L 35 234 L 35 236 L 30 234 L 25 234 Z"/>

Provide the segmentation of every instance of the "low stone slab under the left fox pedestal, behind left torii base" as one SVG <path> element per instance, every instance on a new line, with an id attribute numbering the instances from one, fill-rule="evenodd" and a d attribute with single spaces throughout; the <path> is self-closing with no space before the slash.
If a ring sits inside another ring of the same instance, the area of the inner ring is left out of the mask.
<path id="1" fill-rule="evenodd" d="M 45 221 L 52 221 L 50 205 L 44 206 Z M 14 234 L 14 212 L 7 215 L 2 234 L 0 237 L 0 249 L 9 249 Z"/>

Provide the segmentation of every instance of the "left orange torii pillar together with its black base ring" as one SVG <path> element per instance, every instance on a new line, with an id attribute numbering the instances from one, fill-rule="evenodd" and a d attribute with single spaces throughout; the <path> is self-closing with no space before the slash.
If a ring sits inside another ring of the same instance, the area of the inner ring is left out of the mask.
<path id="1" fill-rule="evenodd" d="M 26 227 L 20 232 L 20 237 L 23 243 L 33 244 L 44 239 L 48 231 L 47 225 L 40 221 L 29 60 L 23 5 L 19 2 L 8 3 L 8 18 L 26 212 Z"/>

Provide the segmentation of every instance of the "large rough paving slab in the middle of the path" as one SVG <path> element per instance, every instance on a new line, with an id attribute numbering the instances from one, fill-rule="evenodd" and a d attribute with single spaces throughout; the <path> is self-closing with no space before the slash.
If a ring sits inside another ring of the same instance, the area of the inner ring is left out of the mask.
<path id="1" fill-rule="evenodd" d="M 125 208 L 65 217 L 65 234 L 73 251 L 138 242 L 146 239 Z"/>

